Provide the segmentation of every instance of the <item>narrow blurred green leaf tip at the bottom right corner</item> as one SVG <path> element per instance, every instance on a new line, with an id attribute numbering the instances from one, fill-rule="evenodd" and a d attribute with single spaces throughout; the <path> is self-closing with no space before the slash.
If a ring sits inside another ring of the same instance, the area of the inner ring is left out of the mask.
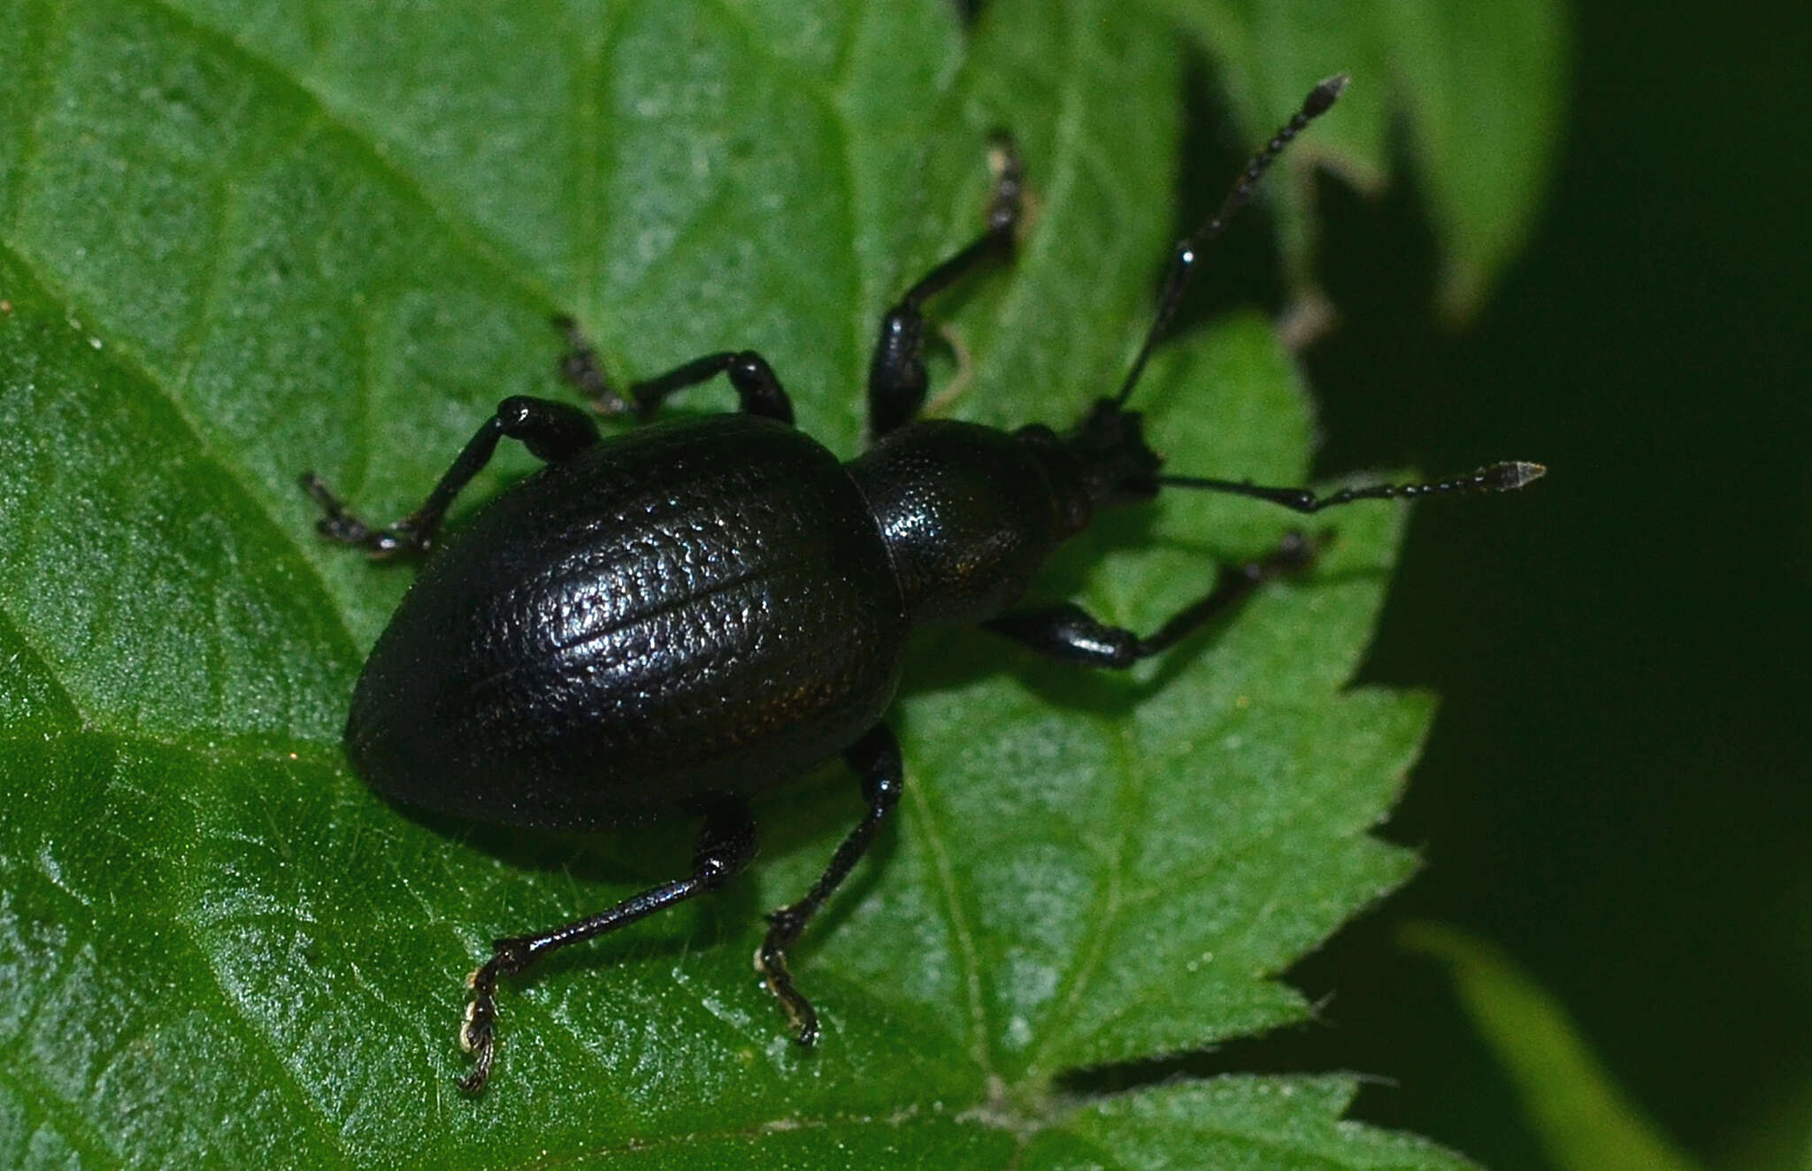
<path id="1" fill-rule="evenodd" d="M 1557 1167 L 1689 1171 L 1682 1155 L 1611 1079 L 1555 999 L 1509 957 L 1433 923 L 1402 943 L 1441 961 L 1480 1037 L 1517 1086 L 1531 1131 Z"/>

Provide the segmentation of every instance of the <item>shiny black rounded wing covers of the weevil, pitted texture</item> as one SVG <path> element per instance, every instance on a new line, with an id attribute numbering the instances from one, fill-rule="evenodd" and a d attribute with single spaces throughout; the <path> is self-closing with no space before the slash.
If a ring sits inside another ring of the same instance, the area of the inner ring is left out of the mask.
<path id="1" fill-rule="evenodd" d="M 371 651 L 346 743 L 411 805 L 622 825 L 841 750 L 892 700 L 904 634 L 830 451 L 750 415 L 656 424 L 458 526 Z"/>

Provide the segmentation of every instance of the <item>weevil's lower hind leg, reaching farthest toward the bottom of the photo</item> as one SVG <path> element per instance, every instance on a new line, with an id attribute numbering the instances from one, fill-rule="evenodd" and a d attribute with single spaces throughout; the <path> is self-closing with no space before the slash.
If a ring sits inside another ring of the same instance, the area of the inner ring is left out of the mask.
<path id="1" fill-rule="evenodd" d="M 685 903 L 694 895 L 718 890 L 741 874 L 756 857 L 756 819 L 748 805 L 725 798 L 705 814 L 692 848 L 692 874 L 672 883 L 651 886 L 623 899 L 607 912 L 574 919 L 547 932 L 513 935 L 493 943 L 491 959 L 471 973 L 471 1004 L 466 1006 L 466 1024 L 460 1026 L 460 1048 L 473 1055 L 471 1073 L 460 1082 L 466 1093 L 478 1093 L 491 1077 L 491 1059 L 496 1050 L 496 981 L 516 975 L 529 964 L 560 948 L 596 939 L 658 910 Z"/>

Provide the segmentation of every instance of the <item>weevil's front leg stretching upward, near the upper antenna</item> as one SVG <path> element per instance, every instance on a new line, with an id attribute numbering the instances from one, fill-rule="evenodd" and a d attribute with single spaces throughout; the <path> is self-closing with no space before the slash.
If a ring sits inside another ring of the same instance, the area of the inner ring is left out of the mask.
<path id="1" fill-rule="evenodd" d="M 1013 232 L 1018 228 L 1024 203 L 1024 172 L 1018 147 L 997 132 L 989 141 L 989 161 L 995 172 L 993 194 L 988 201 L 988 228 L 966 248 L 928 272 L 906 290 L 899 305 L 881 319 L 875 353 L 868 361 L 868 437 L 881 439 L 888 431 L 913 421 L 924 406 L 924 303 L 944 292 L 977 265 L 1006 257 L 1013 250 Z"/>

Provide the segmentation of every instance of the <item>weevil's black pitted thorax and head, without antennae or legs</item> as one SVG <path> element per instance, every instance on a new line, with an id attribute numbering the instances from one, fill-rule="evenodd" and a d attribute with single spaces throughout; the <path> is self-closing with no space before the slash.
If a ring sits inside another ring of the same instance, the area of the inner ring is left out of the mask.
<path id="1" fill-rule="evenodd" d="M 913 422 L 848 464 L 893 556 L 908 620 L 986 622 L 1105 506 L 1156 495 L 1140 419 L 1098 402 L 1069 433 Z"/>

